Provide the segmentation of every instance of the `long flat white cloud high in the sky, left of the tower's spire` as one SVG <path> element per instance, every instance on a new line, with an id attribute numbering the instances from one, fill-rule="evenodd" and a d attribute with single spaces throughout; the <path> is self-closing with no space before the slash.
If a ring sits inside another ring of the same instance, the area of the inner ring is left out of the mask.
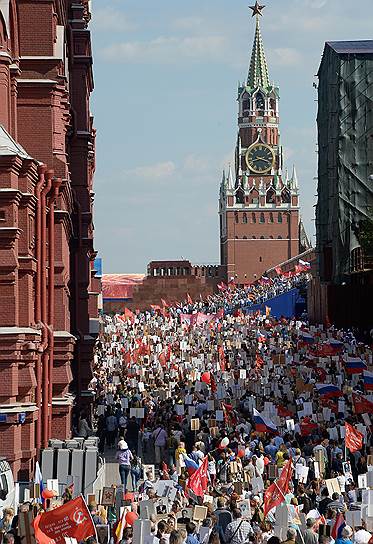
<path id="1" fill-rule="evenodd" d="M 223 36 L 160 36 L 148 42 L 122 42 L 104 48 L 101 55 L 113 62 L 173 63 L 181 57 L 196 61 L 220 60 L 225 48 Z"/>

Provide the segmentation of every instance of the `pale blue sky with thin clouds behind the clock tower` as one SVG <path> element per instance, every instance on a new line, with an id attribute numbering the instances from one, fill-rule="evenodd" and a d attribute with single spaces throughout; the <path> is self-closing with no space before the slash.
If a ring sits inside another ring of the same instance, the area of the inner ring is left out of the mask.
<path id="1" fill-rule="evenodd" d="M 371 1 L 263 2 L 285 162 L 296 165 L 313 241 L 314 75 L 325 41 L 371 37 Z M 92 0 L 95 246 L 104 272 L 145 272 L 153 259 L 219 261 L 218 187 L 254 36 L 250 3 Z"/>

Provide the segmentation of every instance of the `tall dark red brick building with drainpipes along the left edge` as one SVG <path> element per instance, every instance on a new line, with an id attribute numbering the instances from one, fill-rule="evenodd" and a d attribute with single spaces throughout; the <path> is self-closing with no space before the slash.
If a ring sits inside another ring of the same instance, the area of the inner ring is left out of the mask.
<path id="1" fill-rule="evenodd" d="M 89 393 L 99 282 L 88 0 L 0 0 L 0 455 L 18 479 Z M 52 425 L 53 421 L 53 425 Z"/>

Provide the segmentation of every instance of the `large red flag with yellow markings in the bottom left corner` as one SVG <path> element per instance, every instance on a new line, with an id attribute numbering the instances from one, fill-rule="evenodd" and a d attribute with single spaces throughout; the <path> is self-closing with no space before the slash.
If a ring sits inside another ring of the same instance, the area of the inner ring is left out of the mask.
<path id="1" fill-rule="evenodd" d="M 96 535 L 83 497 L 77 497 L 63 506 L 39 514 L 32 523 L 39 544 L 62 543 L 65 542 L 65 536 L 81 541 Z"/>

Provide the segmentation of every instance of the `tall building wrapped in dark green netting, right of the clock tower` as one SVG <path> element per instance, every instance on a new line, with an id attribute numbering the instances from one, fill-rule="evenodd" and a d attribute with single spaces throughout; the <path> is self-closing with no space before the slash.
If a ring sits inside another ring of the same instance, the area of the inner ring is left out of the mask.
<path id="1" fill-rule="evenodd" d="M 318 77 L 319 289 L 346 303 L 373 281 L 373 40 L 327 42 Z"/>

